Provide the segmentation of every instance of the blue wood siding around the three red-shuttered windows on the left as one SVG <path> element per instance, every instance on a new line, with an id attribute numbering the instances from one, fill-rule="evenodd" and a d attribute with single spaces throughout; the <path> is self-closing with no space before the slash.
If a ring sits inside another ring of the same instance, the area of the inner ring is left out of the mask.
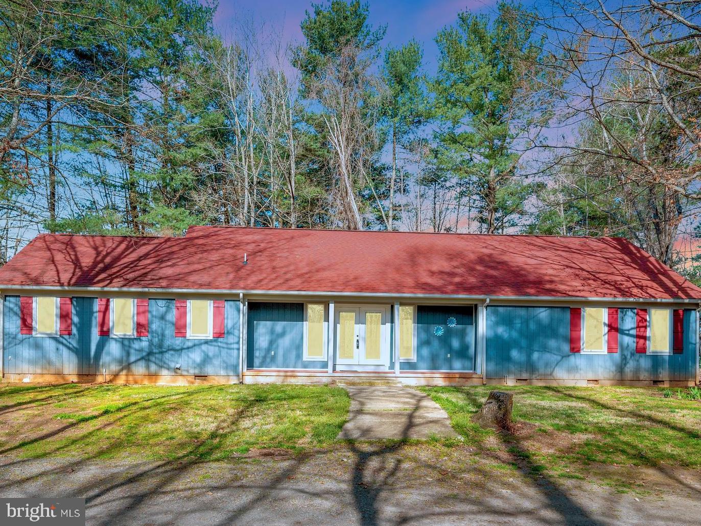
<path id="1" fill-rule="evenodd" d="M 55 375 L 238 375 L 240 303 L 226 301 L 224 338 L 175 337 L 175 300 L 149 299 L 149 336 L 97 336 L 97 298 L 74 297 L 72 334 L 20 335 L 20 298 L 4 305 L 4 370 Z M 175 367 L 180 365 L 180 370 Z"/>

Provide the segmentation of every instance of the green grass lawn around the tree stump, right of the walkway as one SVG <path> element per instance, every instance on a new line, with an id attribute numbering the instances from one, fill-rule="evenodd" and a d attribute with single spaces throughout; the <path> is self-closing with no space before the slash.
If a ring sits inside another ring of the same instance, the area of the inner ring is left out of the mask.
<path id="1" fill-rule="evenodd" d="M 486 431 L 470 417 L 489 391 L 514 393 L 515 436 Z M 505 447 L 536 470 L 572 464 L 701 466 L 701 403 L 632 387 L 429 387 L 465 443 Z M 669 394 L 669 393 L 667 393 Z M 519 429 L 519 426 L 517 426 Z"/>

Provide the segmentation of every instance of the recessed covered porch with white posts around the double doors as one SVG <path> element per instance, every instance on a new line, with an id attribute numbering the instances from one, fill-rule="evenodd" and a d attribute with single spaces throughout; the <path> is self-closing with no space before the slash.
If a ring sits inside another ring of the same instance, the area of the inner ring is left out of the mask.
<path id="1" fill-rule="evenodd" d="M 244 383 L 482 384 L 484 302 L 243 298 Z"/>

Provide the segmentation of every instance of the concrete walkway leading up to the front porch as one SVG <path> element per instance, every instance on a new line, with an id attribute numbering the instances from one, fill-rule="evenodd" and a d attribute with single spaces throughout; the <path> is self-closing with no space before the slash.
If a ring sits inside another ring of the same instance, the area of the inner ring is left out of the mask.
<path id="1" fill-rule="evenodd" d="M 403 386 L 344 386 L 351 395 L 341 439 L 456 437 L 448 414 L 425 394 Z"/>

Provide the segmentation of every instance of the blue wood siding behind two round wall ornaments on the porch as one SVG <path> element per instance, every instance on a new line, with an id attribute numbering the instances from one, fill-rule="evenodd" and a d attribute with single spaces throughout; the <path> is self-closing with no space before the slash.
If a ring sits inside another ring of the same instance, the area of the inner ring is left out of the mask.
<path id="1" fill-rule="evenodd" d="M 455 318 L 456 326 L 448 326 Z M 437 336 L 435 329 L 443 328 Z M 475 370 L 475 310 L 470 306 L 419 305 L 416 308 L 416 362 L 401 370 Z"/>

